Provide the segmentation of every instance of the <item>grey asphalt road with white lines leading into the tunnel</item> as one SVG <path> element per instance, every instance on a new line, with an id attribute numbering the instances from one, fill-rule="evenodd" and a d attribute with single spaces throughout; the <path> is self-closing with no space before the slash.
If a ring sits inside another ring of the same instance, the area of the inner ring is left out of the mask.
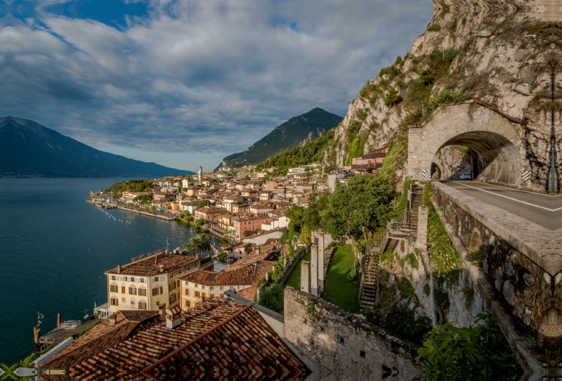
<path id="1" fill-rule="evenodd" d="M 441 182 L 552 231 L 562 227 L 562 195 L 542 195 L 476 181 Z"/>

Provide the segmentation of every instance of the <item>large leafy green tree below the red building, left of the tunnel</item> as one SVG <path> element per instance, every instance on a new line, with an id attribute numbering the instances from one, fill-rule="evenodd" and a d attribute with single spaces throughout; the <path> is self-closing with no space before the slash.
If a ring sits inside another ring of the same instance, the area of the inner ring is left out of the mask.
<path id="1" fill-rule="evenodd" d="M 390 217 L 394 187 L 378 176 L 353 176 L 347 186 L 338 186 L 320 210 L 322 231 L 334 240 L 368 240 Z"/>

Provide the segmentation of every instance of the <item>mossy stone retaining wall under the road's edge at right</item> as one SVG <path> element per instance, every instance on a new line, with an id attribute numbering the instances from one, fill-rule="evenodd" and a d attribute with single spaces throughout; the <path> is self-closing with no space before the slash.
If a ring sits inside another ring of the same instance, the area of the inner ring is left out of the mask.
<path id="1" fill-rule="evenodd" d="M 469 252 L 483 253 L 481 268 L 504 309 L 520 327 L 537 335 L 541 344 L 558 347 L 562 337 L 562 283 L 554 283 L 551 290 L 548 273 L 437 186 L 433 186 L 433 198 L 462 245 Z"/>

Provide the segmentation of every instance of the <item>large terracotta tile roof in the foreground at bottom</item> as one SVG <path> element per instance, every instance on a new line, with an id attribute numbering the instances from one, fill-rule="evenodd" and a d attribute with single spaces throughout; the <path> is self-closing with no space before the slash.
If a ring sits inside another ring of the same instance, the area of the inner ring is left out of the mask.
<path id="1" fill-rule="evenodd" d="M 165 328 L 159 321 L 138 325 L 111 347 L 90 338 L 96 354 L 70 361 L 65 376 L 40 376 L 41 380 L 301 381 L 309 373 L 251 305 L 211 299 L 182 312 L 181 325 L 174 330 Z M 105 349 L 98 351 L 100 345 Z M 61 353 L 50 361 L 57 361 Z"/>

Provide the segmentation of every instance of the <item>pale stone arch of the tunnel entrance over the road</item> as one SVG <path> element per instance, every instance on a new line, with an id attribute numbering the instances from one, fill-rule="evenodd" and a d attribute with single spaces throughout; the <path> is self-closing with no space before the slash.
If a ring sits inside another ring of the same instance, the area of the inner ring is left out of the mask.
<path id="1" fill-rule="evenodd" d="M 478 103 L 441 108 L 426 124 L 410 128 L 408 174 L 427 179 L 438 149 L 459 145 L 478 155 L 477 181 L 518 188 L 521 172 L 530 166 L 517 131 L 518 123 Z"/>

